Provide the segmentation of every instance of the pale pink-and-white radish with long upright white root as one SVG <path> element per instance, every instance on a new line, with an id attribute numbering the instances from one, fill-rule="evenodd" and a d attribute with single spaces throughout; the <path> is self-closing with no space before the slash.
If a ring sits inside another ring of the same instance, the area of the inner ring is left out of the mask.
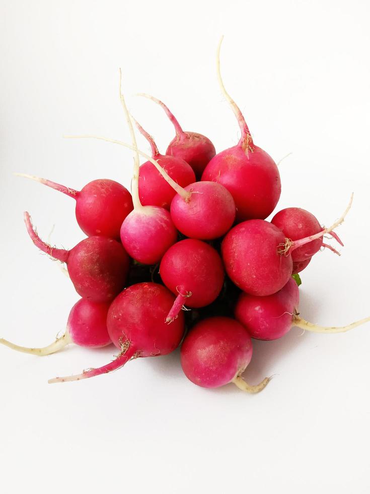
<path id="1" fill-rule="evenodd" d="M 139 198 L 139 156 L 135 133 L 130 115 L 121 91 L 120 99 L 131 134 L 132 146 L 135 151 L 134 170 L 131 182 L 133 211 L 124 219 L 121 226 L 121 241 L 128 254 L 139 263 L 156 264 L 167 249 L 176 242 L 177 230 L 171 220 L 170 213 L 159 206 L 142 206 Z M 153 160 L 154 161 L 154 160 Z"/>

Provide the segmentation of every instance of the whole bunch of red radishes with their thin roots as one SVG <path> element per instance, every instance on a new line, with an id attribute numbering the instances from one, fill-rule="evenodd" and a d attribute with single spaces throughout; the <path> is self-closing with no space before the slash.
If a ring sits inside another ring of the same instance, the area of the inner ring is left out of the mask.
<path id="1" fill-rule="evenodd" d="M 221 39 L 222 41 L 222 39 Z M 136 121 L 151 155 L 138 150 L 133 118 L 119 81 L 120 102 L 131 143 L 96 138 L 130 148 L 134 154 L 131 194 L 120 183 L 97 179 L 77 191 L 47 179 L 32 178 L 75 199 L 76 219 L 87 235 L 73 249 L 53 248 L 24 213 L 28 234 L 38 249 L 66 264 L 81 299 L 73 305 L 65 333 L 43 348 L 0 343 L 25 353 L 47 355 L 69 343 L 118 348 L 110 362 L 49 383 L 76 381 L 110 373 L 138 357 L 166 355 L 181 344 L 186 377 L 205 388 L 234 383 L 249 393 L 261 391 L 265 378 L 250 385 L 242 374 L 252 358 L 253 339 L 281 338 L 291 327 L 322 333 L 348 326 L 321 327 L 299 315 L 299 272 L 324 248 L 339 254 L 328 237 L 343 245 L 335 229 L 351 201 L 329 228 L 298 207 L 275 213 L 281 192 L 274 160 L 254 143 L 247 123 L 227 93 L 241 137 L 216 154 L 205 136 L 183 131 L 160 100 L 175 128 L 166 154 Z M 139 157 L 145 158 L 140 165 Z M 268 344 L 268 343 L 266 343 Z"/>

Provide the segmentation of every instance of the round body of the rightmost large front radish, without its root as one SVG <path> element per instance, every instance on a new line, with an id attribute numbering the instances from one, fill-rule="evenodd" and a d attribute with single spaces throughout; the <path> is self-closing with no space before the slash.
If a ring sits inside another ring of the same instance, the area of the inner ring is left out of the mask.
<path id="1" fill-rule="evenodd" d="M 283 232 L 264 220 L 248 220 L 234 226 L 221 244 L 226 272 L 243 291 L 271 295 L 292 274 L 291 256 L 280 253 Z"/>

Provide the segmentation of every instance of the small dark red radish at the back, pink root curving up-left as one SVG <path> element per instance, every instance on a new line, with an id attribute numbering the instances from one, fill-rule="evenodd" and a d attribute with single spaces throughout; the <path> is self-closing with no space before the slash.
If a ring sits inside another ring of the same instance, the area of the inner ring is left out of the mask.
<path id="1" fill-rule="evenodd" d="M 145 96 L 145 98 L 149 98 L 162 106 L 176 131 L 176 136 L 170 142 L 166 154 L 185 160 L 192 167 L 197 178 L 200 178 L 204 168 L 216 154 L 210 140 L 196 132 L 184 132 L 173 113 L 159 99 L 143 93 L 138 94 L 138 96 Z"/>

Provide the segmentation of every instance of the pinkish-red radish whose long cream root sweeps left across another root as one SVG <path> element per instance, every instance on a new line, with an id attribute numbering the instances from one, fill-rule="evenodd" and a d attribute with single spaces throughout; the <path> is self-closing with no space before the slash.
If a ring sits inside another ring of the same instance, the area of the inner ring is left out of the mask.
<path id="1" fill-rule="evenodd" d="M 66 137 L 69 139 L 98 139 L 119 144 L 128 149 L 137 149 L 125 142 L 106 137 L 93 135 Z M 232 227 L 235 219 L 235 203 L 232 195 L 224 186 L 217 182 L 201 181 L 191 183 L 182 188 L 172 180 L 156 160 L 140 150 L 137 150 L 137 152 L 140 156 L 151 161 L 177 192 L 171 203 L 171 218 L 181 233 L 199 240 L 213 240 L 225 235 Z M 132 192 L 132 199 L 135 208 L 134 192 Z M 127 218 L 125 221 L 127 221 Z M 125 248 L 127 249 L 126 245 Z M 130 254 L 128 249 L 127 252 Z"/>

